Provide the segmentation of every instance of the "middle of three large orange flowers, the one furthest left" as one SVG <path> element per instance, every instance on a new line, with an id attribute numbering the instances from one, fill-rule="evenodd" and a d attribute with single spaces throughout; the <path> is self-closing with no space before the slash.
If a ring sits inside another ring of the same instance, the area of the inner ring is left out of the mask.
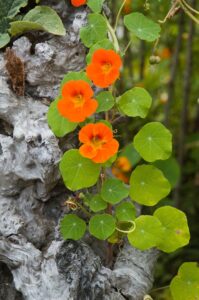
<path id="1" fill-rule="evenodd" d="M 86 81 L 68 81 L 62 88 L 62 98 L 57 104 L 58 111 L 71 122 L 83 122 L 97 109 L 98 103 L 92 99 L 93 94 Z"/>

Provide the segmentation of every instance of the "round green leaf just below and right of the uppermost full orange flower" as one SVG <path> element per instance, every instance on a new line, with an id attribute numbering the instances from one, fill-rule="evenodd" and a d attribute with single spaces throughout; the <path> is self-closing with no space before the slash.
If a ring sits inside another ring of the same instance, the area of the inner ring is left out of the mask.
<path id="1" fill-rule="evenodd" d="M 119 108 L 129 117 L 145 118 L 151 107 L 152 98 L 149 93 L 140 87 L 135 87 L 119 98 Z"/>

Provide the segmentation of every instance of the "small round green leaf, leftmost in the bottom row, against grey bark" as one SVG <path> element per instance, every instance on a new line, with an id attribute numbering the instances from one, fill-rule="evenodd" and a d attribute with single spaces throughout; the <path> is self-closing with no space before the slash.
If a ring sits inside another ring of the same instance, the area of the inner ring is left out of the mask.
<path id="1" fill-rule="evenodd" d="M 86 223 L 78 216 L 69 214 L 66 215 L 60 223 L 60 232 L 65 240 L 79 240 L 83 237 L 86 231 Z"/>

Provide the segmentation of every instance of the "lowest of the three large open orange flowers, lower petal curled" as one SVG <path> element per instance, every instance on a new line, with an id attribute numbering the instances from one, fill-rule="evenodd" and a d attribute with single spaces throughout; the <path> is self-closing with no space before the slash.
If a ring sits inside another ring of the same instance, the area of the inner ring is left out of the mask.
<path id="1" fill-rule="evenodd" d="M 113 138 L 112 130 L 103 123 L 88 124 L 79 132 L 83 143 L 80 154 L 95 163 L 104 163 L 117 153 L 119 143 Z"/>

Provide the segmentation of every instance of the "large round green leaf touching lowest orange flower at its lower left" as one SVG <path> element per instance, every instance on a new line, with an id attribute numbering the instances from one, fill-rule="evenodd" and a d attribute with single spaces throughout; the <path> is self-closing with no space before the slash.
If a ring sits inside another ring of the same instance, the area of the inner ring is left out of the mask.
<path id="1" fill-rule="evenodd" d="M 81 156 L 78 150 L 67 151 L 59 167 L 63 181 L 71 191 L 93 186 L 100 174 L 100 164 Z"/>

